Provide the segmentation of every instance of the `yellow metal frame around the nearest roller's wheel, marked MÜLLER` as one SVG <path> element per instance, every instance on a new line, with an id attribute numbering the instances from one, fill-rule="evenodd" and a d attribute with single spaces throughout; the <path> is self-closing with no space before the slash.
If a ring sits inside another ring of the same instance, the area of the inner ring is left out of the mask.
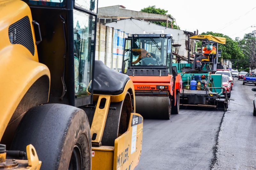
<path id="1" fill-rule="evenodd" d="M 122 102 L 125 100 L 127 92 L 130 93 L 133 99 L 133 110 L 135 112 L 135 92 L 134 85 L 131 80 L 127 81 L 123 93 L 120 95 L 99 95 L 94 94 L 93 98 L 97 101 L 97 106 L 94 112 L 94 117 L 91 126 L 91 134 L 97 134 L 93 143 L 101 143 L 101 138 L 105 128 L 106 119 L 108 116 L 109 103 Z M 100 100 L 106 98 L 106 106 L 103 109 L 99 108 Z M 142 145 L 142 127 L 143 118 L 140 114 L 131 113 L 127 130 L 118 135 L 115 139 L 114 146 L 92 147 L 92 169 L 118 169 L 128 170 L 134 169 L 140 160 L 141 145 Z M 113 130 L 114 131 L 114 130 Z"/>

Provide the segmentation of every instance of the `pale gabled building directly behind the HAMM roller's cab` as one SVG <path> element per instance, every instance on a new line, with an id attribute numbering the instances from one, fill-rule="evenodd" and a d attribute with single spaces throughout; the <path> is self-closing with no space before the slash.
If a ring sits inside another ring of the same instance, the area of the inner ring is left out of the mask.
<path id="1" fill-rule="evenodd" d="M 105 25 L 113 27 L 115 29 L 124 31 L 128 34 L 143 34 L 145 32 L 163 31 L 163 33 L 171 33 L 173 36 L 173 54 L 180 63 L 186 63 L 188 61 L 188 53 L 190 61 L 194 60 L 193 51 L 195 51 L 195 40 L 189 39 L 189 36 L 194 36 L 193 32 L 183 31 L 164 27 L 161 25 L 153 24 L 151 22 L 128 18 L 118 21 L 106 23 Z M 175 61 L 174 61 L 175 62 Z"/>

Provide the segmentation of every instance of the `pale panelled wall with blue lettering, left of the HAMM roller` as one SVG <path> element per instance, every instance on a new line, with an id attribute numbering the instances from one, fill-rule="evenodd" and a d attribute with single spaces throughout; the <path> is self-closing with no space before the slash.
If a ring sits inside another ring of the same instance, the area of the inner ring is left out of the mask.
<path id="1" fill-rule="evenodd" d="M 113 27 L 98 24 L 96 32 L 95 60 L 118 72 L 122 69 L 124 39 L 128 34 Z"/>

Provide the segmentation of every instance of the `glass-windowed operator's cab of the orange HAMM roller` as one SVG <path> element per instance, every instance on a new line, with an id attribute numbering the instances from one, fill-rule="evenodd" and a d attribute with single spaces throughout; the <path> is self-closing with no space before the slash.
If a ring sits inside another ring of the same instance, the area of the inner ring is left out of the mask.
<path id="1" fill-rule="evenodd" d="M 126 39 L 122 72 L 126 73 L 128 67 L 164 67 L 170 70 L 171 38 L 170 34 L 134 34 Z"/>

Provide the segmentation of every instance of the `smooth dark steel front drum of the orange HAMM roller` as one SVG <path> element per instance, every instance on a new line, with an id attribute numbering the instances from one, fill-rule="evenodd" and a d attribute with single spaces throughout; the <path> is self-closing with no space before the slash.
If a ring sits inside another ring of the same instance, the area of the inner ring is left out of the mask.
<path id="1" fill-rule="evenodd" d="M 143 118 L 170 119 L 171 100 L 169 96 L 135 96 L 136 113 Z"/>

